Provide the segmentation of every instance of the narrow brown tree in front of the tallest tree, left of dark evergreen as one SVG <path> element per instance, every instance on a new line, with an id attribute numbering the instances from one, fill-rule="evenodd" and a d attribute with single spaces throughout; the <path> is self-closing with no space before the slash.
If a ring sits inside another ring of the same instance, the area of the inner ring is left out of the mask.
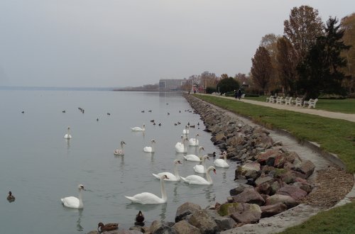
<path id="1" fill-rule="evenodd" d="M 295 50 L 287 38 L 278 38 L 278 77 L 283 86 L 283 92 L 292 94 L 295 92 L 296 59 Z"/>

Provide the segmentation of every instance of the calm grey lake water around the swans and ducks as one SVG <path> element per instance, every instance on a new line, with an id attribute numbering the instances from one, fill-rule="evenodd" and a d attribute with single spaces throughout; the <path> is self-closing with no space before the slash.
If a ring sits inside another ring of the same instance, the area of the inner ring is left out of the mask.
<path id="1" fill-rule="evenodd" d="M 165 182 L 167 204 L 143 206 L 124 197 L 143 191 L 161 196 L 159 180 L 152 173 L 173 172 L 173 160 L 183 159 L 174 146 L 189 122 L 196 128 L 190 128 L 188 138 L 199 133 L 205 154 L 220 152 L 203 131 L 200 116 L 187 111 L 192 108 L 182 94 L 0 90 L 0 104 L 1 233 L 87 233 L 99 222 L 129 228 L 139 210 L 146 225 L 174 221 L 176 209 L 186 201 L 202 208 L 222 203 L 236 186 L 235 163 L 229 162 L 229 169 L 212 173 L 211 186 Z M 145 133 L 131 131 L 143 123 Z M 68 126 L 72 139 L 65 140 Z M 155 153 L 143 152 L 152 138 Z M 125 155 L 115 156 L 121 140 L 126 142 Z M 197 147 L 187 146 L 187 151 L 197 154 Z M 180 175 L 195 174 L 196 164 L 182 162 Z M 207 166 L 212 164 L 212 159 L 207 160 Z M 63 207 L 60 199 L 78 196 L 78 184 L 87 189 L 84 208 Z M 12 203 L 6 200 L 9 191 L 16 196 Z"/>

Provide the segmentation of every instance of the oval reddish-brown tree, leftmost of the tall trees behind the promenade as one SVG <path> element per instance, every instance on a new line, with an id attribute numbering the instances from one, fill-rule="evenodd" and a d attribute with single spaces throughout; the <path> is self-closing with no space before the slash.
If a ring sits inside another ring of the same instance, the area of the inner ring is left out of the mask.
<path id="1" fill-rule="evenodd" d="M 262 46 L 259 46 L 254 57 L 251 58 L 251 62 L 253 82 L 260 89 L 262 89 L 264 94 L 266 94 L 272 70 L 271 58 L 268 55 L 268 50 Z"/>

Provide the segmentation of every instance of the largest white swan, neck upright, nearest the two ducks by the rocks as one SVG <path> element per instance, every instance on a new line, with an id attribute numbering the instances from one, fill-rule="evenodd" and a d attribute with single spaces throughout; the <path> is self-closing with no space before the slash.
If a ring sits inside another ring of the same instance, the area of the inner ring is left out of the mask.
<path id="1" fill-rule="evenodd" d="M 161 198 L 156 196 L 155 194 L 143 192 L 141 194 L 136 194 L 134 196 L 125 196 L 126 199 L 131 200 L 133 203 L 139 204 L 163 204 L 166 203 L 168 199 L 165 192 L 164 179 L 169 179 L 165 174 L 163 174 L 160 178 L 160 189 L 161 189 Z"/>

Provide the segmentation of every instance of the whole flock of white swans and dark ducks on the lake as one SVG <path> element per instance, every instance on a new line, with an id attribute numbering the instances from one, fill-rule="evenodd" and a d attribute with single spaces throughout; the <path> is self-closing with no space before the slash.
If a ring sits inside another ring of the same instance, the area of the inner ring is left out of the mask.
<path id="1" fill-rule="evenodd" d="M 78 108 L 82 113 L 84 113 L 84 108 Z M 185 110 L 186 111 L 186 110 Z M 189 112 L 192 112 L 190 110 L 187 110 Z M 62 111 L 62 113 L 65 113 L 66 111 Z M 141 111 L 144 113 L 145 111 Z M 148 112 L 152 112 L 151 110 L 148 110 Z M 181 112 L 181 111 L 179 111 Z M 24 113 L 24 111 L 21 111 L 21 113 Z M 168 113 L 169 115 L 170 113 Z M 108 116 L 111 115 L 111 113 L 107 113 Z M 99 118 L 97 118 L 97 121 L 99 121 Z M 151 120 L 151 123 L 155 125 L 155 121 Z M 174 123 L 175 126 L 180 125 L 180 122 Z M 158 126 L 161 126 L 161 123 L 158 123 Z M 197 126 L 200 126 L 200 123 L 197 123 Z M 202 150 L 204 150 L 204 147 L 200 146 L 198 137 L 200 136 L 198 133 L 195 135 L 195 138 L 188 138 L 188 135 L 190 134 L 190 128 L 195 128 L 195 125 L 190 125 L 190 123 L 187 123 L 185 128 L 182 130 L 182 135 L 181 135 L 181 141 L 175 144 L 175 151 L 178 153 L 187 153 L 187 145 L 189 147 L 198 147 L 198 155 L 183 155 L 183 159 L 186 161 L 192 161 L 192 162 L 198 162 L 199 164 L 195 165 L 192 169 L 195 171 L 195 173 L 198 174 L 205 174 L 206 179 L 204 177 L 201 177 L 200 175 L 197 174 L 192 174 L 187 177 L 181 177 L 179 172 L 178 172 L 178 165 L 182 165 L 181 160 L 173 160 L 173 165 L 174 165 L 174 173 L 172 172 L 160 172 L 158 174 L 153 174 L 153 177 L 156 179 L 160 180 L 160 190 L 161 190 L 161 197 L 156 196 L 155 194 L 151 194 L 148 192 L 143 192 L 140 194 L 136 194 L 134 196 L 125 196 L 126 199 L 129 199 L 132 203 L 138 203 L 138 204 L 164 204 L 167 202 L 168 196 L 165 191 L 165 186 L 164 182 L 185 182 L 187 184 L 197 184 L 197 185 L 211 185 L 213 184 L 212 177 L 209 174 L 209 172 L 214 172 L 216 174 L 216 168 L 215 167 L 223 167 L 223 168 L 228 168 L 229 165 L 226 160 L 226 152 L 222 152 L 223 159 L 222 158 L 217 158 L 214 160 L 214 166 L 206 167 L 206 160 L 209 160 L 210 157 L 215 158 L 216 157 L 216 152 L 207 154 L 207 155 L 202 155 Z M 199 127 L 200 128 L 200 127 Z M 132 131 L 141 131 L 144 132 L 146 131 L 146 126 L 143 124 L 142 127 L 133 127 L 131 128 Z M 67 133 L 65 133 L 64 138 L 67 140 L 70 140 L 72 138 L 72 135 L 70 135 L 70 127 L 67 127 Z M 143 152 L 147 153 L 154 153 L 154 144 L 155 140 L 151 140 L 151 145 L 143 147 Z M 116 156 L 124 156 L 124 145 L 126 143 L 124 140 L 121 140 L 121 147 L 117 148 L 114 150 L 114 155 Z M 82 191 L 85 191 L 84 185 L 79 184 L 77 186 L 77 189 L 79 191 L 78 197 L 75 196 L 67 196 L 65 198 L 60 199 L 62 201 L 62 205 L 68 208 L 77 208 L 81 209 L 84 207 L 83 202 L 82 202 Z M 12 195 L 11 191 L 9 191 L 9 195 L 7 196 L 7 199 L 9 202 L 15 201 L 15 197 Z M 136 215 L 136 225 L 144 225 L 144 216 L 141 211 L 138 212 Z M 103 231 L 108 231 L 108 230 L 116 230 L 119 227 L 119 223 L 99 223 L 97 230 L 99 233 L 102 233 Z"/>

